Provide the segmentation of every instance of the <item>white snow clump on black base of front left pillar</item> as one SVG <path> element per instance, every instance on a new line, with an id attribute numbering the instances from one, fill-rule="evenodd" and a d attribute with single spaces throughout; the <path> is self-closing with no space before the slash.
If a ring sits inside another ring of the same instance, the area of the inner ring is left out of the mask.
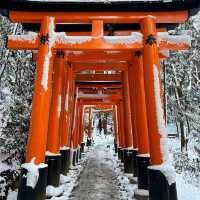
<path id="1" fill-rule="evenodd" d="M 27 170 L 27 182 L 26 185 L 29 187 L 35 188 L 38 179 L 39 179 L 39 169 L 47 167 L 46 164 L 41 163 L 39 165 L 35 164 L 35 157 L 31 160 L 30 163 L 24 163 L 22 164 L 22 168 Z"/>

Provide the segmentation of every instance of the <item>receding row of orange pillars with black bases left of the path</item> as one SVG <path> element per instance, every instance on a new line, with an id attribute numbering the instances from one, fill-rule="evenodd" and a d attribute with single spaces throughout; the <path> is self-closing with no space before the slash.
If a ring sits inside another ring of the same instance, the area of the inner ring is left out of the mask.
<path id="1" fill-rule="evenodd" d="M 39 55 L 45 54 L 47 47 L 41 45 Z M 85 106 L 77 96 L 74 72 L 65 62 L 63 52 L 52 55 L 44 89 L 43 59 L 44 56 L 39 56 L 37 63 L 26 163 L 47 165 L 38 167 L 39 179 L 34 188 L 27 185 L 29 171 L 22 169 L 18 200 L 44 200 L 46 186 L 58 187 L 60 174 L 67 175 L 70 166 L 75 166 L 84 152 Z"/>

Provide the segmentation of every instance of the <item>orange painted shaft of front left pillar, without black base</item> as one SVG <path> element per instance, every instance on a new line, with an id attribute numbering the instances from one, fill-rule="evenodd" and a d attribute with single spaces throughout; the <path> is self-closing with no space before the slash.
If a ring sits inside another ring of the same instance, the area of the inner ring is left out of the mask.
<path id="1" fill-rule="evenodd" d="M 41 34 L 48 34 L 50 18 L 45 17 L 41 23 Z M 50 95 L 52 89 L 53 57 L 48 69 L 48 88 L 41 84 L 44 73 L 45 57 L 51 52 L 48 43 L 41 44 L 38 52 L 35 88 L 32 103 L 32 115 L 28 135 L 26 162 L 35 158 L 35 163 L 44 163 L 47 143 L 48 118 L 50 109 Z"/>

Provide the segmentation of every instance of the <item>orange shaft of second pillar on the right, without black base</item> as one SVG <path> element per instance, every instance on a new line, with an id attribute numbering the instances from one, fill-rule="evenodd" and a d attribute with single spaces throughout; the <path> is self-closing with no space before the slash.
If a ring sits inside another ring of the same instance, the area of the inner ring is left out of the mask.
<path id="1" fill-rule="evenodd" d="M 134 74 L 135 90 L 135 120 L 138 135 L 138 153 L 149 154 L 149 137 L 147 126 L 147 112 L 144 89 L 144 73 L 142 55 L 134 56 L 132 72 Z"/>

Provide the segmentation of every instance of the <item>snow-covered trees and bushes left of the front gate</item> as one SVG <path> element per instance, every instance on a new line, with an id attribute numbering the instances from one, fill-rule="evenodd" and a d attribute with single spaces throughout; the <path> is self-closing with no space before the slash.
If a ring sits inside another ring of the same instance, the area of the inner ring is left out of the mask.
<path id="1" fill-rule="evenodd" d="M 0 199 L 17 186 L 24 161 L 31 113 L 35 65 L 29 51 L 6 49 L 8 34 L 21 34 L 22 26 L 0 17 Z"/>

